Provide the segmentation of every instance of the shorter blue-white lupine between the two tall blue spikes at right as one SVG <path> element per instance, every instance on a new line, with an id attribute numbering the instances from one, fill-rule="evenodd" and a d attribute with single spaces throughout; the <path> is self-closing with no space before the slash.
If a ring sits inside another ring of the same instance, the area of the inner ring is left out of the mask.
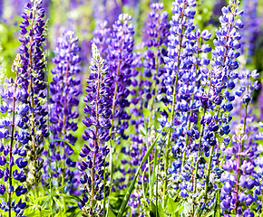
<path id="1" fill-rule="evenodd" d="M 200 133 L 197 127 L 198 123 L 198 110 L 200 109 L 200 102 L 197 100 L 198 95 L 202 91 L 201 85 L 203 80 L 202 71 L 209 65 L 209 60 L 203 53 L 210 52 L 211 48 L 205 41 L 209 40 L 211 33 L 207 30 L 200 32 L 196 30 L 186 36 L 191 45 L 188 51 L 192 53 L 190 61 L 192 65 L 189 70 L 184 70 L 184 74 L 180 77 L 180 88 L 178 90 L 178 101 L 180 112 L 180 127 L 181 136 L 172 146 L 172 153 L 178 156 L 180 151 L 183 150 L 182 165 L 184 165 L 186 156 L 195 153 L 196 146 L 195 140 L 199 139 Z M 202 57 L 201 57 L 202 56 Z M 182 144 L 185 143 L 184 146 Z M 179 155 L 180 156 L 180 155 Z"/>

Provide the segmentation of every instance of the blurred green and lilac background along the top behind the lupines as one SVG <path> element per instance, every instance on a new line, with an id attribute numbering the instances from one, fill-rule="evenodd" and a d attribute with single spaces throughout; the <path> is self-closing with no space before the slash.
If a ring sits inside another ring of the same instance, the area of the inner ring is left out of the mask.
<path id="1" fill-rule="evenodd" d="M 12 76 L 10 67 L 17 48 L 20 15 L 24 11 L 24 5 L 30 0 L 0 0 L 0 43 L 3 59 L 3 66 L 7 76 Z M 228 1 L 228 0 L 227 0 Z M 219 15 L 221 7 L 227 5 L 226 0 L 197 0 L 196 22 L 200 30 L 209 29 L 212 37 L 214 30 L 219 27 Z M 150 11 L 149 5 L 158 2 L 156 0 L 43 0 L 46 20 L 48 21 L 48 71 L 51 70 L 52 57 L 56 38 L 65 30 L 73 30 L 79 37 L 82 46 L 81 57 L 83 60 L 83 73 L 88 73 L 90 60 L 91 39 L 93 30 L 97 24 L 103 20 L 109 22 L 109 26 L 118 18 L 119 14 L 131 14 L 135 29 L 135 44 L 143 40 L 143 26 L 147 22 L 147 13 Z M 172 0 L 160 1 L 164 4 L 164 9 L 171 16 L 170 8 Z M 246 7 L 244 15 L 245 30 L 243 35 L 250 38 L 249 60 L 246 62 L 249 69 L 263 70 L 263 0 L 243 0 L 242 7 Z M 257 5 L 256 10 L 255 6 Z M 249 9 L 250 8 L 250 9 Z M 210 45 L 213 46 L 212 40 Z"/>

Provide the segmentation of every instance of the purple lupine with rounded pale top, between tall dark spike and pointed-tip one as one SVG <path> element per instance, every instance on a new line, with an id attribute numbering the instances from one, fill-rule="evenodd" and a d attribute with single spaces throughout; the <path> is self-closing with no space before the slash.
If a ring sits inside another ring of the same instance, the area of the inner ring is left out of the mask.
<path id="1" fill-rule="evenodd" d="M 52 177 L 57 184 L 66 184 L 63 192 L 75 193 L 77 178 L 70 168 L 76 166 L 71 160 L 77 138 L 73 132 L 77 130 L 74 121 L 79 117 L 78 105 L 81 94 L 81 80 L 78 77 L 81 72 L 81 58 L 78 53 L 81 47 L 77 44 L 78 38 L 72 31 L 64 32 L 57 40 L 53 59 L 55 67 L 50 83 L 50 130 L 52 141 L 50 151 L 52 153 Z M 59 176 L 57 176 L 59 175 Z"/>

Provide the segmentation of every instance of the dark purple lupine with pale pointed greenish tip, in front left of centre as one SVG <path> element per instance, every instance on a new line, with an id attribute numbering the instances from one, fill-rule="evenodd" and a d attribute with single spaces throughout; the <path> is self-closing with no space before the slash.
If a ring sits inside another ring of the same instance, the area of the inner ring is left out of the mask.
<path id="1" fill-rule="evenodd" d="M 84 107 L 86 117 L 83 118 L 83 124 L 86 126 L 83 139 L 87 144 L 80 152 L 83 199 L 78 205 L 83 211 L 83 216 L 98 216 L 102 215 L 100 201 L 107 197 L 110 190 L 106 183 L 108 180 L 106 168 L 109 165 L 106 157 L 110 149 L 105 142 L 110 139 L 109 132 L 112 127 L 112 80 L 108 75 L 108 67 L 94 43 L 90 70 L 87 78 L 87 95 L 84 99 L 87 103 Z"/>

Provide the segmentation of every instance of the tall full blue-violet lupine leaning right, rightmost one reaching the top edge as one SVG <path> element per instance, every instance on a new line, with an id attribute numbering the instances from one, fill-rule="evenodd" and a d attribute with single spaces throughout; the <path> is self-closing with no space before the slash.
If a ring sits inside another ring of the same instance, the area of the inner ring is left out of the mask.
<path id="1" fill-rule="evenodd" d="M 233 80 L 238 78 L 235 71 L 239 67 L 236 59 L 239 57 L 240 35 L 238 29 L 243 27 L 237 17 L 239 12 L 239 1 L 231 1 L 227 7 L 222 8 L 222 15 L 219 17 L 221 27 L 216 30 L 217 39 L 214 40 L 215 49 L 212 51 L 211 70 L 206 67 L 202 69 L 202 85 L 207 89 L 200 91 L 198 98 L 203 109 L 200 119 L 200 138 L 198 156 L 195 165 L 194 192 L 202 187 L 203 183 L 198 180 L 197 175 L 203 171 L 204 163 L 201 163 L 204 156 L 209 156 L 209 163 L 204 182 L 204 200 L 202 205 L 208 206 L 212 200 L 208 200 L 209 186 L 219 183 L 219 145 L 217 137 L 227 136 L 230 132 L 229 111 L 233 109 L 231 104 L 235 99 L 232 90 L 235 87 Z M 207 91 L 208 90 L 208 91 Z M 225 141 L 227 144 L 229 140 Z M 216 177 L 216 178 L 215 178 Z M 223 204 L 223 203 L 222 203 Z M 223 204 L 226 207 L 226 204 Z"/>

